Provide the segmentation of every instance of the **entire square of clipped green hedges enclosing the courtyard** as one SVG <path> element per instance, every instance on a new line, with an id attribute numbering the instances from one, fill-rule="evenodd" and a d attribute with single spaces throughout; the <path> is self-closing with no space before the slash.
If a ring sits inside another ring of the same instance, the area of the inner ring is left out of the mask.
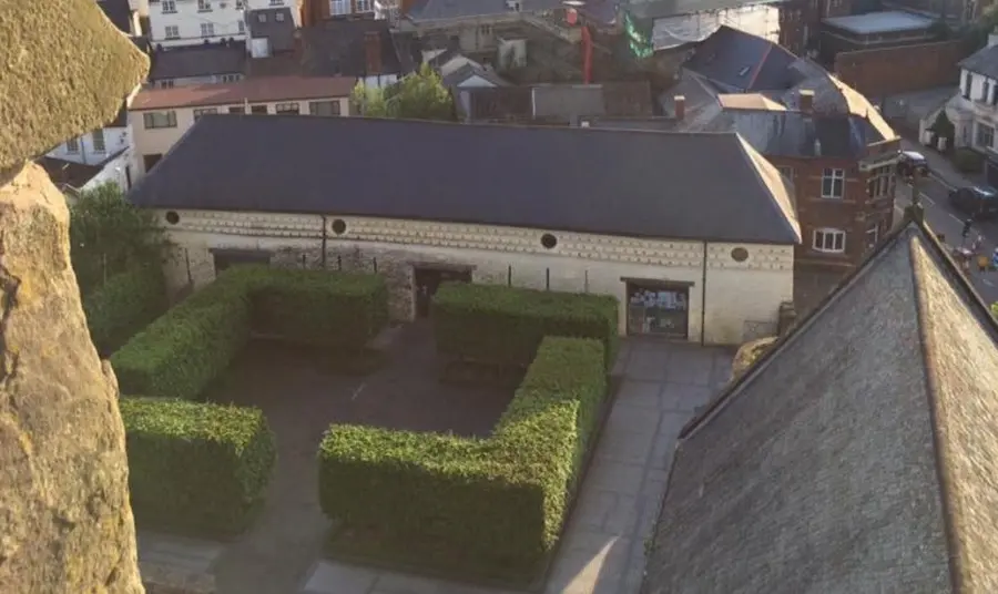
<path id="1" fill-rule="evenodd" d="M 377 275 L 234 267 L 111 357 L 140 525 L 233 536 L 276 463 L 257 409 L 196 401 L 251 338 L 356 352 L 387 324 Z M 449 576 L 530 583 L 546 567 L 607 407 L 610 297 L 446 284 L 438 355 L 526 369 L 488 438 L 333 424 L 318 445 L 328 552 Z M 109 332 L 113 334 L 113 332 Z M 302 411 L 308 414 L 307 410 Z"/>

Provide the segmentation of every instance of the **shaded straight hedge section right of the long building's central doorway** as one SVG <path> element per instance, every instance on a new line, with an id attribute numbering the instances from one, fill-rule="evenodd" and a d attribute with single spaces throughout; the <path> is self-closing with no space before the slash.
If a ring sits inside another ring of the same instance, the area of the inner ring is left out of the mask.
<path id="1" fill-rule="evenodd" d="M 434 296 L 437 350 L 476 361 L 527 367 L 546 336 L 603 342 L 617 357 L 619 306 L 613 297 L 498 285 L 446 283 Z"/>

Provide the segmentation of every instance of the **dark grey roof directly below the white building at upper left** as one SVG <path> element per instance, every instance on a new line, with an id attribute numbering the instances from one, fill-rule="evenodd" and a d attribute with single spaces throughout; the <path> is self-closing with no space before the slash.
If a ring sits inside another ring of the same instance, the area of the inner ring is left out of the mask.
<path id="1" fill-rule="evenodd" d="M 150 81 L 238 74 L 246 66 L 246 44 L 208 43 L 153 52 Z"/>

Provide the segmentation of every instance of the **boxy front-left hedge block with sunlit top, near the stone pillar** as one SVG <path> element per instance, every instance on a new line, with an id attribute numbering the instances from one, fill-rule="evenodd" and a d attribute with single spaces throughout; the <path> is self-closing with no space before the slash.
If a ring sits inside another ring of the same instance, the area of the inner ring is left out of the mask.
<path id="1" fill-rule="evenodd" d="M 259 410 L 163 398 L 120 407 L 140 524 L 232 536 L 252 523 L 276 461 Z"/>

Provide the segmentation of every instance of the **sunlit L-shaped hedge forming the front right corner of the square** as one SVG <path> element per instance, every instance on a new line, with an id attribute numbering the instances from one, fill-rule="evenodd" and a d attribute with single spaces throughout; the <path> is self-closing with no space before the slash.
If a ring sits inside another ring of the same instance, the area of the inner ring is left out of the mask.
<path id="1" fill-rule="evenodd" d="M 368 554 L 530 576 L 566 520 L 608 391 L 603 360 L 598 340 L 546 338 L 489 439 L 330 427 L 323 511 L 345 534 L 375 535 Z"/>

